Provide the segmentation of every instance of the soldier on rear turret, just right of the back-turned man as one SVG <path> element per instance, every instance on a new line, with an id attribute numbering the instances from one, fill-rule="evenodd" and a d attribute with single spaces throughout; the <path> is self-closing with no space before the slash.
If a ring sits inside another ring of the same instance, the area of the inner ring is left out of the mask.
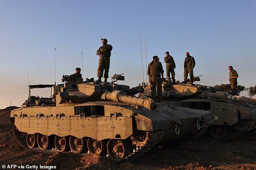
<path id="1" fill-rule="evenodd" d="M 164 62 L 166 62 L 166 76 L 169 83 L 172 82 L 172 84 L 175 83 L 175 72 L 174 69 L 176 68 L 175 62 L 172 56 L 170 56 L 170 53 L 166 51 L 166 57 L 164 57 Z M 170 78 L 170 72 L 172 74 L 172 81 Z"/>

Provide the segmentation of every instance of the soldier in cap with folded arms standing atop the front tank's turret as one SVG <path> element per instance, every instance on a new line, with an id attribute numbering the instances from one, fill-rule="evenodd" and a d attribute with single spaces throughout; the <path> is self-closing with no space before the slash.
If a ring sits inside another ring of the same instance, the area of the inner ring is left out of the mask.
<path id="1" fill-rule="evenodd" d="M 99 47 L 99 49 L 97 50 L 96 54 L 99 55 L 100 59 L 99 59 L 99 67 L 97 69 L 98 74 L 97 77 L 99 78 L 98 80 L 96 80 L 96 82 L 101 82 L 101 78 L 104 77 L 105 78 L 105 82 L 107 82 L 107 78 L 109 78 L 109 65 L 110 65 L 110 56 L 111 56 L 111 50 L 112 50 L 112 45 L 107 44 L 107 39 L 101 39 L 102 41 L 102 46 Z M 104 72 L 104 76 L 103 76 L 103 71 Z"/>

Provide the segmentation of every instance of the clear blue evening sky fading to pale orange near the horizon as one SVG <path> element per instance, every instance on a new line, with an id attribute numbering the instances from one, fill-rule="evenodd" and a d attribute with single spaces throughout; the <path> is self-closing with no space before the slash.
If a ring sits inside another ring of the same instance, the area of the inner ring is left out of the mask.
<path id="1" fill-rule="evenodd" d="M 165 70 L 166 51 L 176 80 L 188 51 L 199 84 L 229 84 L 233 66 L 239 85 L 255 86 L 255 9 L 256 0 L 0 0 L 0 109 L 21 106 L 28 84 L 61 84 L 77 67 L 97 80 L 101 38 L 113 46 L 109 77 L 124 74 L 118 83 L 130 88 L 148 81 L 154 55 Z"/>

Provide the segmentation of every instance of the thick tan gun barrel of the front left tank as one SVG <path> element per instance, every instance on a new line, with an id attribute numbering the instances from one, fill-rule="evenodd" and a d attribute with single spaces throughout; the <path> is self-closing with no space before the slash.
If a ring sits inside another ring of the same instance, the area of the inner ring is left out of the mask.
<path id="1" fill-rule="evenodd" d="M 113 92 L 105 92 L 102 94 L 101 98 L 113 100 L 116 102 L 126 102 L 129 104 L 136 104 L 138 106 L 143 106 L 149 110 L 156 110 L 157 109 L 157 102 L 152 100 L 151 98 L 141 98 L 136 96 L 128 96 L 125 92 L 120 90 L 114 90 Z"/>

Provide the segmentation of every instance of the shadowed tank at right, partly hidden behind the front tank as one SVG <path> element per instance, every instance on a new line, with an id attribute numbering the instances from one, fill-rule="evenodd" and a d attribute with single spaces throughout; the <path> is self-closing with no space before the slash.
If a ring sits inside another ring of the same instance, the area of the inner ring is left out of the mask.
<path id="1" fill-rule="evenodd" d="M 199 76 L 194 80 L 200 81 Z M 191 82 L 190 82 L 191 83 Z M 150 86 L 142 96 L 151 97 Z M 218 119 L 209 123 L 205 137 L 228 140 L 255 128 L 256 98 L 233 96 L 200 84 L 162 84 L 163 102 L 174 106 L 211 111 Z"/>

